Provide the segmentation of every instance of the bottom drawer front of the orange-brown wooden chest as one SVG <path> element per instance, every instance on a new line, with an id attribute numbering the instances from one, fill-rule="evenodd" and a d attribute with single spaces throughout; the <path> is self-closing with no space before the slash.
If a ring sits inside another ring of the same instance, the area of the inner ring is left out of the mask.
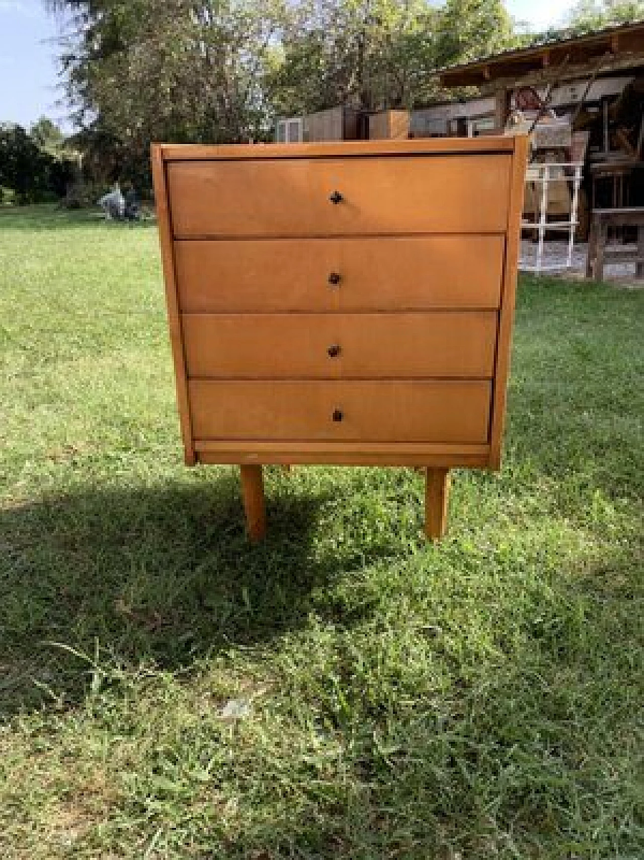
<path id="1" fill-rule="evenodd" d="M 195 439 L 488 440 L 489 381 L 192 379 L 188 392 Z"/>

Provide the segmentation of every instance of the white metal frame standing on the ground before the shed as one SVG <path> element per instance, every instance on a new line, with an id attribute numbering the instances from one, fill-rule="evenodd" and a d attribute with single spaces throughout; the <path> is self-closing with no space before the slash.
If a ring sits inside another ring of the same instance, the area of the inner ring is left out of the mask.
<path id="1" fill-rule="evenodd" d="M 556 169 L 556 172 L 555 172 Z M 541 201 L 539 219 L 534 224 L 531 221 L 521 221 L 521 234 L 524 230 L 538 230 L 537 253 L 532 256 L 533 262 L 521 257 L 519 268 L 522 272 L 557 272 L 569 269 L 573 265 L 574 230 L 578 224 L 577 210 L 579 206 L 579 188 L 581 174 L 584 169 L 582 162 L 548 162 L 532 163 L 528 166 L 526 182 L 541 184 Z M 548 191 L 553 182 L 572 182 L 573 199 L 570 206 L 570 218 L 567 221 L 548 221 Z M 568 233 L 568 254 L 564 263 L 544 265 L 544 239 L 546 230 L 557 230 Z"/>

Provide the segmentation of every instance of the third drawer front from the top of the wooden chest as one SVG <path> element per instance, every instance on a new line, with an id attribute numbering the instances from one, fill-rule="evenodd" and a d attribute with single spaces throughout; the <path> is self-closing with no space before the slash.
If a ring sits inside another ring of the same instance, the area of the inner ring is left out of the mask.
<path id="1" fill-rule="evenodd" d="M 184 314 L 189 377 L 491 378 L 497 314 Z"/>

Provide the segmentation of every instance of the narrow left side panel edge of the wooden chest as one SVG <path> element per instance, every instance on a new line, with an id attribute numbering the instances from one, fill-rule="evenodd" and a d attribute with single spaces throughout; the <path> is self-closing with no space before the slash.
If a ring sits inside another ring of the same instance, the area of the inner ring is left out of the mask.
<path id="1" fill-rule="evenodd" d="M 159 241 L 161 243 L 163 279 L 166 285 L 167 322 L 170 329 L 170 344 L 173 352 L 179 423 L 184 444 L 185 464 L 192 466 L 196 462 L 195 450 L 192 439 L 190 402 L 188 401 L 188 386 L 185 375 L 185 354 L 174 267 L 173 233 L 170 224 L 170 209 L 167 197 L 166 165 L 163 160 L 163 148 L 161 145 L 153 144 L 151 156 L 152 180 L 155 187 L 156 220 L 159 228 Z"/>

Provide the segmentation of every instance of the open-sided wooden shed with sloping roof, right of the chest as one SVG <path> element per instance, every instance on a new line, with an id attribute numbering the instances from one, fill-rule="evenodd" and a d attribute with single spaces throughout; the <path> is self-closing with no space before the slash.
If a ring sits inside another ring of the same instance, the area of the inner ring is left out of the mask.
<path id="1" fill-rule="evenodd" d="M 438 77 L 455 97 L 415 112 L 414 136 L 498 134 L 514 120 L 530 130 L 546 116 L 550 126 L 540 129 L 534 160 L 584 163 L 576 213 L 580 237 L 596 209 L 644 207 L 644 22 L 555 34 L 442 69 Z M 478 95 L 463 98 L 463 88 L 477 88 Z M 534 208 L 529 191 L 528 209 Z M 551 193 L 548 216 L 560 220 L 571 212 L 570 183 L 568 190 L 565 183 L 557 186 L 561 200 Z"/>

